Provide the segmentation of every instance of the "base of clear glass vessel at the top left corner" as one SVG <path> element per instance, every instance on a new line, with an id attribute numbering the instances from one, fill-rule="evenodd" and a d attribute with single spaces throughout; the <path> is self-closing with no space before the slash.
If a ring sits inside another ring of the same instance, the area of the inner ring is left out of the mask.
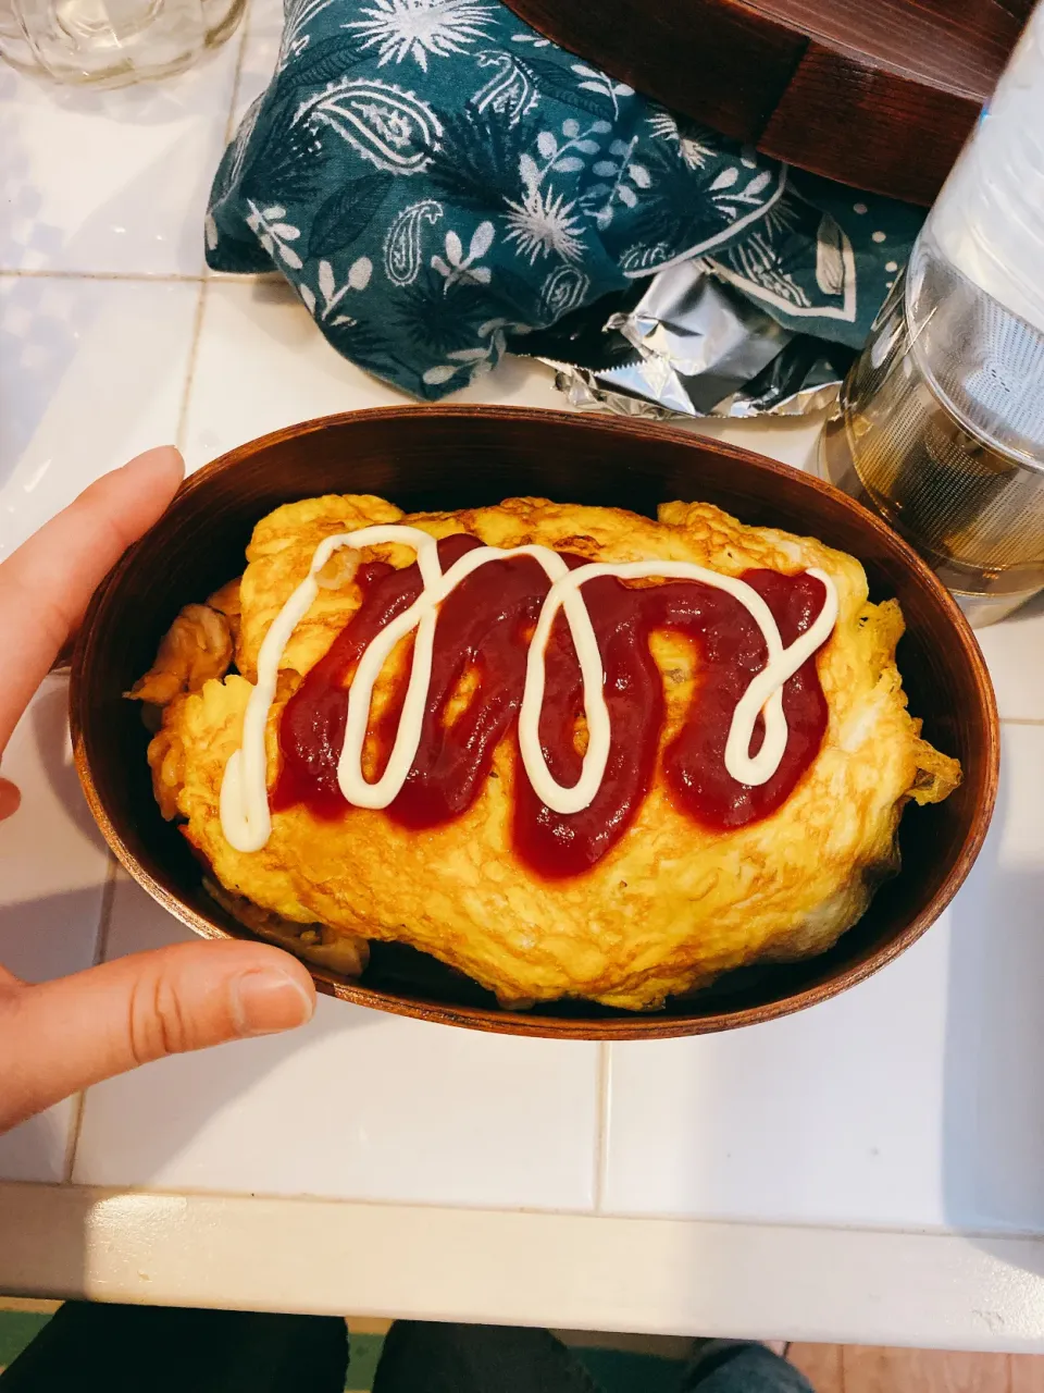
<path id="1" fill-rule="evenodd" d="M 0 56 L 58 82 L 122 86 L 189 67 L 245 0 L 0 0 Z"/>

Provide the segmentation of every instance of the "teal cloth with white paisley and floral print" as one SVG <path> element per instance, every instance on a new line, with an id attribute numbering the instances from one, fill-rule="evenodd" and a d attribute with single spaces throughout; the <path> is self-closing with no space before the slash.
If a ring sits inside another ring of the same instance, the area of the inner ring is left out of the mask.
<path id="1" fill-rule="evenodd" d="M 690 258 L 857 347 L 922 217 L 672 116 L 498 0 L 287 0 L 206 248 L 276 267 L 340 354 L 436 400 Z"/>

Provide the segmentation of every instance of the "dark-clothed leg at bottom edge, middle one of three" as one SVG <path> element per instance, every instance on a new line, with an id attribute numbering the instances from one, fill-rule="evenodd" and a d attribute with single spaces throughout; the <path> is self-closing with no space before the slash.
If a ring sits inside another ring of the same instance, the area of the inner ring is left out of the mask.
<path id="1" fill-rule="evenodd" d="M 548 1330 L 397 1321 L 373 1393 L 599 1393 Z"/>

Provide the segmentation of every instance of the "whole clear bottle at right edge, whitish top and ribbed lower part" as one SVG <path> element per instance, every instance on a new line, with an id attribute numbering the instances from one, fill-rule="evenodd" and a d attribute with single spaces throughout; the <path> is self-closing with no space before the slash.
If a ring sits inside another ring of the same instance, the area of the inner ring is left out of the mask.
<path id="1" fill-rule="evenodd" d="M 821 461 L 973 624 L 1044 589 L 1044 6 L 849 372 Z"/>

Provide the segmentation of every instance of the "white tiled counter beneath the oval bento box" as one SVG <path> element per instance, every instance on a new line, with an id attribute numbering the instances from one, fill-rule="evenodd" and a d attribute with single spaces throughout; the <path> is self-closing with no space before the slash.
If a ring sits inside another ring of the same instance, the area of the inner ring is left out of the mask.
<path id="1" fill-rule="evenodd" d="M 0 65 L 0 554 L 177 440 L 189 468 L 404 398 L 202 216 L 278 22 L 90 95 Z M 461 400 L 461 398 L 458 398 Z M 508 361 L 462 400 L 558 407 Z M 803 465 L 816 423 L 709 433 Z M 1004 724 L 987 847 L 870 982 L 738 1034 L 521 1041 L 322 1000 L 0 1138 L 0 1291 L 1044 1350 L 1044 605 L 983 635 Z M 4 761 L 0 960 L 71 972 L 187 931 L 117 875 L 49 678 Z M 263 1197 L 263 1198 L 259 1198 Z"/>

